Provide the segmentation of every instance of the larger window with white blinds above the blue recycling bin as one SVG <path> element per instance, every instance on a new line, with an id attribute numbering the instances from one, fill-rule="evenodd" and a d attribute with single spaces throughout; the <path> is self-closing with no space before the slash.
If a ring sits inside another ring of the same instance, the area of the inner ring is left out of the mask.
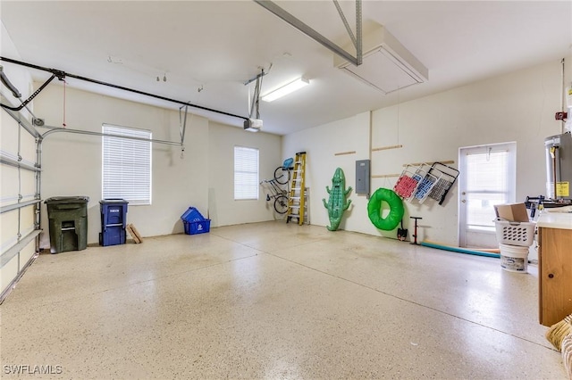
<path id="1" fill-rule="evenodd" d="M 102 126 L 104 134 L 136 137 L 103 136 L 103 199 L 124 199 L 130 205 L 151 204 L 151 142 L 149 130 Z M 139 140 L 143 139 L 143 140 Z"/>

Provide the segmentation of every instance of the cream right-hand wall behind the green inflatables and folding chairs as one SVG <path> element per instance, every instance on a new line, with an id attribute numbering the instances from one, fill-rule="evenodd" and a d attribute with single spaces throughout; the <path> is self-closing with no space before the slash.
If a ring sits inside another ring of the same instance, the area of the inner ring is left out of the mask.
<path id="1" fill-rule="evenodd" d="M 329 223 L 322 198 L 327 199 L 325 186 L 331 184 L 333 170 L 341 167 L 347 186 L 355 186 L 355 161 L 369 157 L 370 143 L 372 148 L 403 145 L 371 153 L 371 174 L 376 176 L 400 173 L 404 164 L 423 161 L 454 161 L 451 166 L 457 168 L 459 147 L 516 141 L 517 201 L 544 194 L 543 139 L 561 132 L 562 123 L 554 119 L 561 108 L 561 72 L 559 60 L 549 62 L 376 110 L 371 112 L 371 124 L 366 113 L 284 136 L 285 156 L 299 149 L 308 153 L 312 224 Z M 356 154 L 334 155 L 354 150 Z M 392 188 L 396 180 L 372 178 L 372 193 L 379 187 Z M 344 215 L 341 229 L 395 237 L 395 231 L 379 231 L 372 225 L 363 195 L 352 192 L 349 199 L 353 206 Z M 408 217 L 423 218 L 420 239 L 458 244 L 457 185 L 442 206 L 430 201 L 421 205 L 405 202 L 405 206 L 404 222 L 410 231 Z"/>

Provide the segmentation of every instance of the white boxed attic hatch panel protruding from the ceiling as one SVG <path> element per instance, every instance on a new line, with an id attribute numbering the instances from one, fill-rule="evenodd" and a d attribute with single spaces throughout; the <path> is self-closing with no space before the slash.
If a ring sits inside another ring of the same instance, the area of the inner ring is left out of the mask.
<path id="1" fill-rule="evenodd" d="M 364 35 L 362 46 L 362 64 L 355 66 L 335 54 L 334 66 L 384 94 L 424 83 L 429 78 L 429 72 L 423 63 L 381 25 Z"/>

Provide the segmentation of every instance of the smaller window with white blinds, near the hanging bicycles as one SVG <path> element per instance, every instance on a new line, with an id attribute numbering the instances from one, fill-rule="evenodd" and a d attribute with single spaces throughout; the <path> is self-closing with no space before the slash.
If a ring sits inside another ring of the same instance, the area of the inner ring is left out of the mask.
<path id="1" fill-rule="evenodd" d="M 234 200 L 258 199 L 258 149 L 234 147 Z"/>

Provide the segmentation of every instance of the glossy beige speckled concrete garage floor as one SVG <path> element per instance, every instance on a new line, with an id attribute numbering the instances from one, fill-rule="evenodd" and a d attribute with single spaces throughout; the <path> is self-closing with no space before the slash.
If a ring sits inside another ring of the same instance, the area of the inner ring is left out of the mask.
<path id="1" fill-rule="evenodd" d="M 537 289 L 534 266 L 283 222 L 42 254 L 0 306 L 1 376 L 566 378 Z"/>

